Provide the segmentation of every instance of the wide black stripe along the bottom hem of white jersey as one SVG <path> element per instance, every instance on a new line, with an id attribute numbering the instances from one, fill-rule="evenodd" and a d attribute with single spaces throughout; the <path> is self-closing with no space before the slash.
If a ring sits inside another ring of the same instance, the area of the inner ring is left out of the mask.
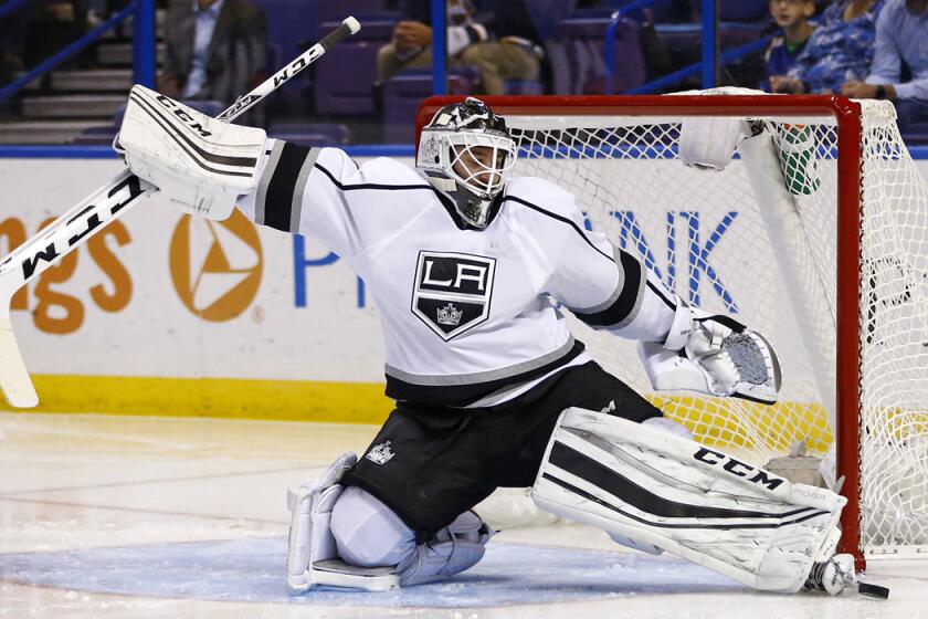
<path id="1" fill-rule="evenodd" d="M 506 387 L 545 376 L 576 359 L 583 349 L 583 343 L 576 340 L 563 356 L 540 367 L 505 378 L 465 385 L 416 385 L 387 374 L 387 397 L 430 407 L 466 407 Z"/>

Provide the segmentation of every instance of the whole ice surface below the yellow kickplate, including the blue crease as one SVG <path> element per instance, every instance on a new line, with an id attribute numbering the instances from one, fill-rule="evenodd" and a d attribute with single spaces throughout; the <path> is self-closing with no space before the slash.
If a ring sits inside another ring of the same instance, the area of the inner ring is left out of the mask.
<path id="1" fill-rule="evenodd" d="M 0 413 L 0 617 L 928 618 L 928 560 L 873 563 L 887 601 L 761 595 L 567 525 L 504 529 L 447 583 L 288 597 L 286 487 L 375 430 Z"/>

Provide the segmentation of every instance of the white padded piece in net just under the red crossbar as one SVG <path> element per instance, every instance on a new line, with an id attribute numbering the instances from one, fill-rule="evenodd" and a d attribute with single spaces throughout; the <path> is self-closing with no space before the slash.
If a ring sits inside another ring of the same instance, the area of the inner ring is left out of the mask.
<path id="1" fill-rule="evenodd" d="M 735 155 L 738 141 L 750 135 L 742 118 L 684 118 L 679 128 L 679 159 L 706 170 L 724 170 Z"/>

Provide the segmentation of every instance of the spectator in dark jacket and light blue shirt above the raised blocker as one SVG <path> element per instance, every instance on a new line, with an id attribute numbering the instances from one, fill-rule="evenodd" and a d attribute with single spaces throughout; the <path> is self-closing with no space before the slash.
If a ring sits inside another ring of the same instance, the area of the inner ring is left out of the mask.
<path id="1" fill-rule="evenodd" d="M 262 78 L 267 20 L 247 0 L 176 0 L 168 24 L 161 93 L 230 104 Z"/>

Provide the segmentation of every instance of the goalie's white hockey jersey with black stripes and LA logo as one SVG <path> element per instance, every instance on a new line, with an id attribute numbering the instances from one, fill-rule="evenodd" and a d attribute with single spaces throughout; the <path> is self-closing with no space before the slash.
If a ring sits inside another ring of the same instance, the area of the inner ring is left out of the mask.
<path id="1" fill-rule="evenodd" d="M 555 300 L 623 337 L 666 337 L 676 296 L 588 231 L 572 196 L 549 181 L 508 180 L 489 224 L 476 230 L 399 161 L 359 168 L 335 148 L 270 144 L 259 187 L 240 209 L 321 241 L 365 280 L 396 400 L 493 406 L 586 363 Z"/>

